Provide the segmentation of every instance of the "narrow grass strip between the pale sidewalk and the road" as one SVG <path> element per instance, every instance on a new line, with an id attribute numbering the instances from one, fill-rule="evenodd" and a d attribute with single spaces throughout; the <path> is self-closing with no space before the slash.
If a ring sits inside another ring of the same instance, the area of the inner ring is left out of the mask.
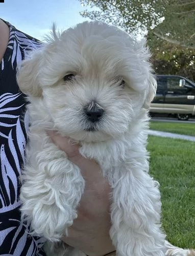
<path id="1" fill-rule="evenodd" d="M 185 134 L 195 136 L 195 123 L 179 123 L 179 122 L 158 122 L 151 121 L 150 129 L 169 133 Z"/>

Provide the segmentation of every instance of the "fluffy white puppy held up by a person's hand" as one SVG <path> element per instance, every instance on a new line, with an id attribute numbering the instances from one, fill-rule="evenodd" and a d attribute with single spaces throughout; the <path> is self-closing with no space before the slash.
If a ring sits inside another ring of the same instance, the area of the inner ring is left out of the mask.
<path id="1" fill-rule="evenodd" d="M 78 166 L 45 133 L 51 129 L 80 142 L 80 153 L 95 159 L 108 179 L 117 255 L 165 255 L 160 193 L 148 173 L 146 150 L 148 109 L 156 91 L 148 59 L 144 42 L 94 22 L 54 32 L 22 62 L 17 81 L 29 95 L 31 127 L 21 210 L 33 233 L 54 245 L 67 235 L 85 187 Z M 47 244 L 48 254 L 83 255 L 63 246 L 55 252 L 57 246 Z"/>

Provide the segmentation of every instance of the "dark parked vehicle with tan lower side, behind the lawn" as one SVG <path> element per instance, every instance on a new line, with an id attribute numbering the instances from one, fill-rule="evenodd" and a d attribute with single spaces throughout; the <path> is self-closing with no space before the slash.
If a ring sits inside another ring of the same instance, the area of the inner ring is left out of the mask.
<path id="1" fill-rule="evenodd" d="M 188 120 L 195 115 L 195 83 L 182 76 L 157 75 L 157 93 L 150 111 Z"/>

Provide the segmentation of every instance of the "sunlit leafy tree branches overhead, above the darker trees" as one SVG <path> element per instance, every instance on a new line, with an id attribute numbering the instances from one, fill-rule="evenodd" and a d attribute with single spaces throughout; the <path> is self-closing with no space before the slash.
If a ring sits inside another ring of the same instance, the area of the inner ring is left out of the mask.
<path id="1" fill-rule="evenodd" d="M 138 34 L 149 32 L 175 45 L 195 49 L 195 1 L 193 0 L 79 0 L 85 10 L 81 14 L 102 20 Z"/>

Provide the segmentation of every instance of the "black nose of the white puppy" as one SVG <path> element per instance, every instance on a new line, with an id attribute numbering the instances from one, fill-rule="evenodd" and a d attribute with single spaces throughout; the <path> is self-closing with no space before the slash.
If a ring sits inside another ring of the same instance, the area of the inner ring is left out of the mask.
<path id="1" fill-rule="evenodd" d="M 88 105 L 86 105 L 84 111 L 88 120 L 91 122 L 99 121 L 104 113 L 103 108 L 95 101 L 91 101 Z"/>

